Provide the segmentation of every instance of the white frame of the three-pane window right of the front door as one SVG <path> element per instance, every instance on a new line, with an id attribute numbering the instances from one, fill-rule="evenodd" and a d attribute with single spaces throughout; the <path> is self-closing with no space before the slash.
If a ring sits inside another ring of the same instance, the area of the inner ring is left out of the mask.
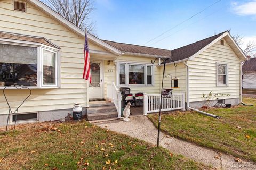
<path id="1" fill-rule="evenodd" d="M 125 65 L 125 84 L 120 84 L 120 65 Z M 143 65 L 144 66 L 144 84 L 129 84 L 129 65 Z M 147 67 L 151 66 L 151 79 L 152 84 L 147 84 Z M 134 62 L 118 62 L 117 63 L 117 86 L 129 86 L 129 87 L 146 87 L 146 86 L 154 86 L 154 65 L 146 64 L 146 63 L 134 63 Z"/>

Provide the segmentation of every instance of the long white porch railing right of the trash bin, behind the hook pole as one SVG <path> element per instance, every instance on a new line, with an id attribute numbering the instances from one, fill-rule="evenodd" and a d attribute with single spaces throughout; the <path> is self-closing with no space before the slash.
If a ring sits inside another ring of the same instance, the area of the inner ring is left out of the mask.
<path id="1" fill-rule="evenodd" d="M 159 112 L 161 94 L 144 94 L 143 115 Z M 171 98 L 162 98 L 161 111 L 185 109 L 185 94 L 173 93 Z"/>

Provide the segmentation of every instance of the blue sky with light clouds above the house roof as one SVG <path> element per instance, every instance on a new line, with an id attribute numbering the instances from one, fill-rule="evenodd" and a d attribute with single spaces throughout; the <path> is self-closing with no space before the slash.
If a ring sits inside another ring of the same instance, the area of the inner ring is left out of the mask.
<path id="1" fill-rule="evenodd" d="M 231 29 L 244 37 L 242 49 L 256 41 L 256 0 L 94 0 L 94 8 L 100 39 L 172 50 Z"/>

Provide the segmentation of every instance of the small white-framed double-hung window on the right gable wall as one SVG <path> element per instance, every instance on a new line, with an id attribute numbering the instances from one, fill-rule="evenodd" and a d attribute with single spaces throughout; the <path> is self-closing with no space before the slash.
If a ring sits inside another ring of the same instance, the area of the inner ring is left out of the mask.
<path id="1" fill-rule="evenodd" d="M 228 85 L 228 65 L 217 63 L 217 86 Z"/>

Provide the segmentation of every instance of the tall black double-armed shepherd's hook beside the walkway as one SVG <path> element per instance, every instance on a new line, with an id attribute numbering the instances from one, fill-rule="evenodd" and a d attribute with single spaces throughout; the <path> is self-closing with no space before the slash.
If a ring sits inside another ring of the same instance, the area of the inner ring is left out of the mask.
<path id="1" fill-rule="evenodd" d="M 161 88 L 161 94 L 160 94 L 160 104 L 159 104 L 159 116 L 158 116 L 158 133 L 157 133 L 157 147 L 159 146 L 159 139 L 160 139 L 160 123 L 161 123 L 161 109 L 162 109 L 162 91 L 163 91 L 163 83 L 164 83 L 164 72 L 165 72 L 165 65 L 167 61 L 173 62 L 174 66 L 177 67 L 177 63 L 174 62 L 171 58 L 161 58 L 158 57 L 154 61 L 151 60 L 151 63 L 154 64 L 156 60 L 162 60 L 164 63 L 164 70 L 163 70 L 163 79 L 162 79 L 162 88 Z"/>

